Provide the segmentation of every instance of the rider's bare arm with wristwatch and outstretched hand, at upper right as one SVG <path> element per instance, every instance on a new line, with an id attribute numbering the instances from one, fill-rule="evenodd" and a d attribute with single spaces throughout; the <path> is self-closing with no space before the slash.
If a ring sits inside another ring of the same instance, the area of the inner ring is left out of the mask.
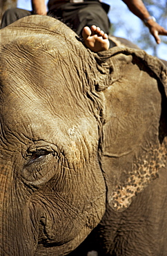
<path id="1" fill-rule="evenodd" d="M 157 24 L 156 21 L 153 19 L 148 19 L 150 17 L 150 14 L 148 10 L 146 9 L 146 6 L 144 6 L 143 1 L 141 0 L 122 0 L 126 5 L 128 6 L 129 10 L 139 17 L 142 21 L 145 21 L 144 23 L 149 28 L 150 33 L 155 37 L 155 41 L 157 44 L 160 44 L 161 39 L 159 35 L 167 35 L 167 30 Z M 148 20 L 147 20 L 148 19 Z"/>

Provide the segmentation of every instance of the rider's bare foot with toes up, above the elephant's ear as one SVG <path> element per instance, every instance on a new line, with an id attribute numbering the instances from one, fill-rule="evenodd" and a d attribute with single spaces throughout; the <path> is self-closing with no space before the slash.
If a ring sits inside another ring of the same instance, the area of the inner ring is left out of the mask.
<path id="1" fill-rule="evenodd" d="M 108 50 L 109 48 L 108 35 L 95 25 L 92 25 L 91 28 L 84 27 L 82 37 L 86 46 L 95 53 Z"/>

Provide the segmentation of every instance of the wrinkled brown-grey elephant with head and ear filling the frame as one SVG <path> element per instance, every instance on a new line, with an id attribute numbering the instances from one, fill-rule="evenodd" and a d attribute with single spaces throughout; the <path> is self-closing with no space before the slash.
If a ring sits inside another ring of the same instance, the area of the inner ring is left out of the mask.
<path id="1" fill-rule="evenodd" d="M 164 256 L 166 67 L 51 17 L 0 38 L 1 255 Z"/>

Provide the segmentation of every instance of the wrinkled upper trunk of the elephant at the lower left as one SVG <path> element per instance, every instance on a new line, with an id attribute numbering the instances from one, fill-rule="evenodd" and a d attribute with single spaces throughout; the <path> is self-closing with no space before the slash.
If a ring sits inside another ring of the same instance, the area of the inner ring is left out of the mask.
<path id="1" fill-rule="evenodd" d="M 2 161 L 3 162 L 3 161 Z M 14 185 L 14 175 L 11 162 L 1 165 L 0 174 L 0 221 L 1 221 L 1 255 L 35 255 L 35 243 L 29 236 L 25 226 L 26 211 L 20 211 L 23 192 Z"/>

